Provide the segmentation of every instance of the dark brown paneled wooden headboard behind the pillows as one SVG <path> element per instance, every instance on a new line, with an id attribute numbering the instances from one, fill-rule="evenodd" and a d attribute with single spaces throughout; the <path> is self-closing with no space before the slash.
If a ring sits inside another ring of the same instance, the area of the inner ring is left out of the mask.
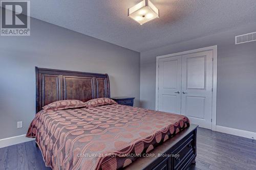
<path id="1" fill-rule="evenodd" d="M 35 67 L 36 112 L 55 101 L 110 98 L 108 74 Z"/>

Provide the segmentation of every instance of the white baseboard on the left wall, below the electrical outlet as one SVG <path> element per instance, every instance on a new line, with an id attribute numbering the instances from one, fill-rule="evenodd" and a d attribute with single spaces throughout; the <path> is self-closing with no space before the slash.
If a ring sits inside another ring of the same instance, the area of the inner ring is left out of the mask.
<path id="1" fill-rule="evenodd" d="M 13 144 L 23 143 L 30 140 L 35 140 L 35 138 L 26 137 L 26 135 L 13 136 L 5 139 L 0 139 L 0 148 L 8 147 Z"/>

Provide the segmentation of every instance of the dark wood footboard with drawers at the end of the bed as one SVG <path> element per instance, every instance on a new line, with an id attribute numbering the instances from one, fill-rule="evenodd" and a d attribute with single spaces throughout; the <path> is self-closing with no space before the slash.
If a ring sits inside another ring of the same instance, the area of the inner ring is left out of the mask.
<path id="1" fill-rule="evenodd" d="M 197 127 L 197 125 L 190 125 L 187 129 L 156 147 L 149 153 L 151 155 L 137 159 L 127 166 L 125 170 L 187 169 L 191 164 L 196 163 Z M 159 154 L 162 157 L 159 157 Z"/>

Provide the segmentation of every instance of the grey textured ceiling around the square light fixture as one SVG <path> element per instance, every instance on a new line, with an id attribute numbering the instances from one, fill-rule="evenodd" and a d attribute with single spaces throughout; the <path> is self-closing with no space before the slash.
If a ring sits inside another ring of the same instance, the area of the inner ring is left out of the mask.
<path id="1" fill-rule="evenodd" d="M 127 17 L 140 1 L 33 0 L 31 16 L 137 52 L 256 21 L 255 0 L 152 0 L 160 18 L 140 26 Z"/>

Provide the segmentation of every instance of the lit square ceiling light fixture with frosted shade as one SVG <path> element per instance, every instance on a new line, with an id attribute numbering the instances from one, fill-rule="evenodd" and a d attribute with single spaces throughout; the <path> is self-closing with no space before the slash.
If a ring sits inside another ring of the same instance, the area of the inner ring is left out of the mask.
<path id="1" fill-rule="evenodd" d="M 159 18 L 159 9 L 149 0 L 143 0 L 139 4 L 128 9 L 128 16 L 143 25 L 147 21 Z"/>

